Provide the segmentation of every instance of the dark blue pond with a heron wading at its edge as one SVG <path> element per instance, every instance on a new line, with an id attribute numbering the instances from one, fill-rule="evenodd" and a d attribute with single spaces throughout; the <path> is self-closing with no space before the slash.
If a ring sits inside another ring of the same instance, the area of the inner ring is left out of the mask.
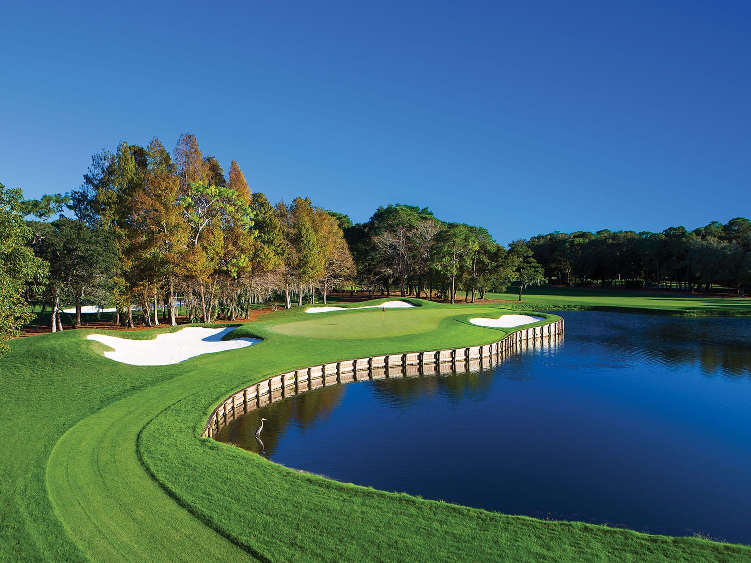
<path id="1" fill-rule="evenodd" d="M 564 312 L 492 369 L 311 390 L 216 436 L 336 480 L 751 543 L 751 319 Z"/>

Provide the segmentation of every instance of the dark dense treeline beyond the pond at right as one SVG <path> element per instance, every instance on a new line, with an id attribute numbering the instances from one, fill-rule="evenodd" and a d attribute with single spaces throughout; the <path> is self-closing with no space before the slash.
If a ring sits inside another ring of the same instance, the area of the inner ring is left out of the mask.
<path id="1" fill-rule="evenodd" d="M 722 285 L 745 297 L 751 284 L 751 221 L 737 217 L 662 233 L 599 230 L 549 233 L 528 242 L 551 281 L 603 287 L 702 291 Z"/>

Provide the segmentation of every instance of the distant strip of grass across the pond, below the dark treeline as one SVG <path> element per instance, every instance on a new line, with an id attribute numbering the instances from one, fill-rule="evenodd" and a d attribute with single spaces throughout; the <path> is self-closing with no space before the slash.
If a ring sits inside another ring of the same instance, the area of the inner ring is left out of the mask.
<path id="1" fill-rule="evenodd" d="M 517 288 L 502 294 L 485 294 L 487 299 L 508 300 L 507 309 L 556 310 L 595 309 L 608 311 L 660 312 L 668 315 L 751 315 L 751 299 L 740 297 L 704 297 L 670 295 L 638 291 L 563 288 L 544 285 L 526 288 L 522 301 Z M 464 294 L 460 296 L 463 298 Z M 513 302 L 513 303 L 511 303 Z"/>

